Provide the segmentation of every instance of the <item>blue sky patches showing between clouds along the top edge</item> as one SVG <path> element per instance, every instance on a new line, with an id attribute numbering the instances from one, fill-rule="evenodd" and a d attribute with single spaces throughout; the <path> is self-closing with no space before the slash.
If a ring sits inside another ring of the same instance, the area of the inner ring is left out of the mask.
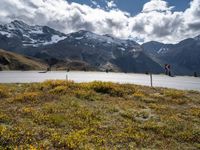
<path id="1" fill-rule="evenodd" d="M 79 4 L 86 4 L 88 6 L 95 7 L 91 0 L 67 0 L 69 2 L 76 2 Z M 96 1 L 102 8 L 106 7 L 105 0 L 93 0 Z M 109 0 L 108 0 L 109 1 Z M 142 11 L 143 5 L 150 0 L 115 0 L 118 9 L 129 12 L 131 15 L 136 15 Z M 189 7 L 191 0 L 166 0 L 170 6 L 175 6 L 173 11 L 184 11 Z"/>

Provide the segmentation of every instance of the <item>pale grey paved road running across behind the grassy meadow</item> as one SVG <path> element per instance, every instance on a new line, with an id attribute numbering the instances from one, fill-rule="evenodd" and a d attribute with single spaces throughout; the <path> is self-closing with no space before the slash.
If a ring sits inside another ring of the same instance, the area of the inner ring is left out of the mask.
<path id="1" fill-rule="evenodd" d="M 145 74 L 79 71 L 52 71 L 47 73 L 39 73 L 39 71 L 1 71 L 0 83 L 31 83 L 42 82 L 49 79 L 66 80 L 66 76 L 69 80 L 75 82 L 111 81 L 150 86 L 150 76 Z M 200 91 L 200 78 L 153 75 L 153 86 Z"/>

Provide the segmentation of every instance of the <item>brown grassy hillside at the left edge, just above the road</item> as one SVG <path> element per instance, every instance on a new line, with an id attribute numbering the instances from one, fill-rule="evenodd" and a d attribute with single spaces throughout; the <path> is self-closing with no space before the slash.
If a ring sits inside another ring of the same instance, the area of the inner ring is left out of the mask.
<path id="1" fill-rule="evenodd" d="M 37 59 L 0 49 L 0 70 L 43 70 L 47 66 Z"/>

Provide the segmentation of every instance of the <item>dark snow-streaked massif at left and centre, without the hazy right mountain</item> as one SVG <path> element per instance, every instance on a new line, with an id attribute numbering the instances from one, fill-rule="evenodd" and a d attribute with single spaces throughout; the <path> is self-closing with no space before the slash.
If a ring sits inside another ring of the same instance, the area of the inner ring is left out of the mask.
<path id="1" fill-rule="evenodd" d="M 63 34 L 22 21 L 0 25 L 0 48 L 43 60 L 81 61 L 97 70 L 162 72 L 162 67 L 132 41 L 89 31 Z"/>

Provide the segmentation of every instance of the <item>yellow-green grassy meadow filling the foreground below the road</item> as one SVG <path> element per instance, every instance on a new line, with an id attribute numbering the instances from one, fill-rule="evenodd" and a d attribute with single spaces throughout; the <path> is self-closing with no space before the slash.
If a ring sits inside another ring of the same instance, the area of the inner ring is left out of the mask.
<path id="1" fill-rule="evenodd" d="M 200 93 L 114 83 L 0 85 L 0 149 L 200 149 Z"/>

